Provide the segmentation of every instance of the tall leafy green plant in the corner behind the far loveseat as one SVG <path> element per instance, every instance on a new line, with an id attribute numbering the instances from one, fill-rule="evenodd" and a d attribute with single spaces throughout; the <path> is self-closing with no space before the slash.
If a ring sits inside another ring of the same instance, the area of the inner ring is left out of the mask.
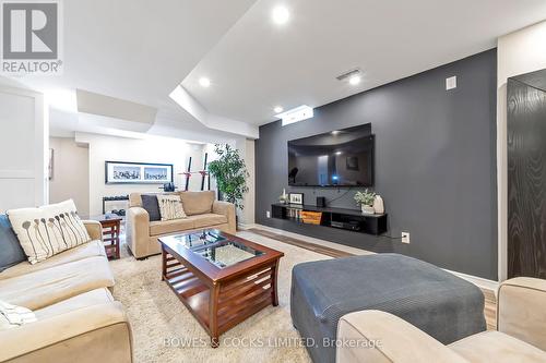
<path id="1" fill-rule="evenodd" d="M 245 160 L 239 150 L 228 144 L 215 144 L 214 152 L 218 159 L 209 164 L 209 172 L 216 179 L 224 199 L 239 209 L 245 208 L 242 196 L 248 192 L 247 178 L 250 177 Z"/>

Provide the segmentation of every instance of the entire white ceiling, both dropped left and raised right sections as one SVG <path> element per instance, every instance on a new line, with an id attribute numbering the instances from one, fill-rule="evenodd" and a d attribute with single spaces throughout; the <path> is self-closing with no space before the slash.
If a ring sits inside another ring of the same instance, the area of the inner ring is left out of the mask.
<path id="1" fill-rule="evenodd" d="M 278 4 L 290 11 L 284 26 L 271 21 Z M 546 19 L 544 0 L 71 0 L 63 7 L 63 75 L 20 81 L 46 94 L 80 88 L 157 108 L 149 133 L 195 140 L 244 134 L 234 120 L 256 129 L 274 120 L 274 106 L 321 106 L 489 49 L 498 36 Z M 357 66 L 365 72 L 359 86 L 335 80 Z M 211 78 L 209 88 L 199 85 L 201 76 Z M 209 119 L 225 120 L 214 129 L 233 133 L 209 129 L 170 99 L 180 82 Z M 92 120 L 63 112 L 52 113 L 58 133 L 90 131 Z"/>

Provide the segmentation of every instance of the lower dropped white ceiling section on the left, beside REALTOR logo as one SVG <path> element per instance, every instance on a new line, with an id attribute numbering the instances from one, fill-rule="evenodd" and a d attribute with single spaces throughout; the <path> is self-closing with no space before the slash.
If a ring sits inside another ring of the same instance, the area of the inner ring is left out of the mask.
<path id="1" fill-rule="evenodd" d="M 46 95 L 80 88 L 151 106 L 158 124 L 206 132 L 168 95 L 254 1 L 63 1 L 63 74 L 19 81 Z M 88 131 L 73 116 L 54 117 L 56 133 Z"/>

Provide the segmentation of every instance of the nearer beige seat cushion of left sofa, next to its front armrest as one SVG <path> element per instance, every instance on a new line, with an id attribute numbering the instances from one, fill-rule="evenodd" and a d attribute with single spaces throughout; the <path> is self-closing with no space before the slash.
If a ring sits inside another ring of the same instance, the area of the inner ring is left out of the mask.
<path id="1" fill-rule="evenodd" d="M 112 286 L 114 276 L 108 261 L 102 256 L 88 257 L 0 280 L 0 300 L 37 310 Z"/>

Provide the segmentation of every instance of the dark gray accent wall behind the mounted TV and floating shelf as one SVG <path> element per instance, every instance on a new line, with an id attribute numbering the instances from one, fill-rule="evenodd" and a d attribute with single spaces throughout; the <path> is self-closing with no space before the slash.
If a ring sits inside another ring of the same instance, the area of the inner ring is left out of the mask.
<path id="1" fill-rule="evenodd" d="M 310 120 L 262 125 L 257 222 L 497 280 L 496 64 L 491 49 L 321 106 Z M 453 75 L 458 87 L 446 90 Z M 389 214 L 387 235 L 266 218 L 283 187 L 305 193 L 306 204 L 325 196 L 331 207 L 357 209 L 356 187 L 289 187 L 287 141 L 365 123 L 376 134 L 373 189 Z M 410 244 L 396 239 L 402 231 L 411 233 Z"/>

